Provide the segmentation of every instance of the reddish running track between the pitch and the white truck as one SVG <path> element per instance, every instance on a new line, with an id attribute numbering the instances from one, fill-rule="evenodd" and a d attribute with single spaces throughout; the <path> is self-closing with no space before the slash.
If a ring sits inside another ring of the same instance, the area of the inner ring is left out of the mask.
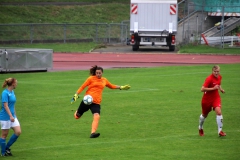
<path id="1" fill-rule="evenodd" d="M 239 55 L 53 53 L 52 71 L 88 70 L 93 65 L 105 69 L 233 63 L 240 63 Z"/>

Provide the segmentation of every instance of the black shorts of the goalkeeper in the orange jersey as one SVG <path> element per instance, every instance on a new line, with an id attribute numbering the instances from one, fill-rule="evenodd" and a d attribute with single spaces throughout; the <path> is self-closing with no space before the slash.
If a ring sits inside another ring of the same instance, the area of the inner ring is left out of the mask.
<path id="1" fill-rule="evenodd" d="M 91 110 L 92 114 L 98 113 L 100 115 L 101 106 L 99 104 L 92 103 L 90 105 L 86 105 L 83 103 L 83 101 L 80 103 L 78 107 L 78 113 L 80 115 L 83 115 L 83 113 L 87 112 L 89 109 Z"/>

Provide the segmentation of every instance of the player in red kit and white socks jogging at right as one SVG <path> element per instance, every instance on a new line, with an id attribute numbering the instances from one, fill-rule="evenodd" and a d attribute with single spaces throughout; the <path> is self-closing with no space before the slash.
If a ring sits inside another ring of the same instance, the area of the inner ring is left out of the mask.
<path id="1" fill-rule="evenodd" d="M 202 114 L 199 117 L 199 135 L 204 136 L 203 123 L 205 118 L 207 118 L 208 113 L 212 110 L 216 113 L 216 120 L 218 126 L 218 135 L 220 137 L 226 136 L 226 133 L 222 131 L 223 127 L 223 116 L 221 112 L 221 97 L 218 90 L 222 93 L 225 91 L 221 87 L 222 76 L 220 75 L 220 67 L 218 65 L 213 66 L 212 74 L 209 75 L 201 91 L 204 92 L 202 97 Z"/>

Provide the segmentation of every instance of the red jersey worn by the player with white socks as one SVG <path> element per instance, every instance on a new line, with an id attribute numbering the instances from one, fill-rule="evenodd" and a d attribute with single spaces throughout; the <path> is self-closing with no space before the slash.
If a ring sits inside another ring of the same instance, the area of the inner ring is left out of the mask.
<path id="1" fill-rule="evenodd" d="M 213 74 L 211 74 L 206 78 L 203 86 L 206 88 L 213 88 L 215 85 L 221 85 L 221 80 L 222 80 L 221 75 L 218 75 L 218 77 L 215 77 Z M 217 89 L 213 91 L 204 92 L 202 100 L 212 101 L 216 98 L 220 98 L 220 95 Z"/>

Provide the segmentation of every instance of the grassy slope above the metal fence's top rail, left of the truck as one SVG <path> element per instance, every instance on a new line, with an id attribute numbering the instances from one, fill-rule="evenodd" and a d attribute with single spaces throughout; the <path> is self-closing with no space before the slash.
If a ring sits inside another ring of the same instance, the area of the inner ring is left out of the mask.
<path id="1" fill-rule="evenodd" d="M 129 20 L 129 7 L 128 3 L 95 3 L 87 6 L 1 6 L 0 22 L 121 23 L 123 20 Z"/>

